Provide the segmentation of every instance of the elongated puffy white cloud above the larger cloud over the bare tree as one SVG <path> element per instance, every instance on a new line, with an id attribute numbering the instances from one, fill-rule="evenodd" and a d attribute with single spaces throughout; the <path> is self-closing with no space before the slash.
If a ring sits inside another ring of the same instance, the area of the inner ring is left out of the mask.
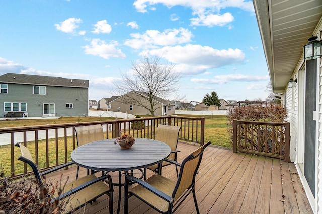
<path id="1" fill-rule="evenodd" d="M 191 41 L 192 33 L 188 29 L 167 29 L 164 32 L 147 30 L 143 34 L 132 33 L 133 39 L 126 40 L 125 45 L 134 49 L 157 48 L 158 46 L 176 45 Z"/>

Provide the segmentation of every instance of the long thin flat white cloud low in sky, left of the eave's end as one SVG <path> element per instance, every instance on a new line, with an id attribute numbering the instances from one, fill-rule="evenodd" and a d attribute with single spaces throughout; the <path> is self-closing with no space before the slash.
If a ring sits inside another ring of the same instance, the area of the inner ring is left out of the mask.
<path id="1" fill-rule="evenodd" d="M 254 81 L 263 81 L 269 80 L 269 76 L 252 76 L 252 75 L 243 75 L 243 74 L 229 74 L 229 75 L 217 75 L 212 79 L 209 78 L 192 78 L 191 81 L 194 83 L 202 84 L 225 84 L 231 81 L 238 82 L 254 82 Z M 253 86 L 260 84 L 252 84 Z M 251 85 L 251 86 L 252 86 Z M 263 88 L 263 87 L 262 87 Z M 249 88 L 248 88 L 249 89 Z"/>

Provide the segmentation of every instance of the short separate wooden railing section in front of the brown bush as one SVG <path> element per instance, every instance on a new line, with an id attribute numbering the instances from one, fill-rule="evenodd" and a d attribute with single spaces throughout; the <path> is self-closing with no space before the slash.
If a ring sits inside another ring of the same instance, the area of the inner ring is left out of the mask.
<path id="1" fill-rule="evenodd" d="M 232 149 L 290 162 L 290 123 L 234 120 Z"/>

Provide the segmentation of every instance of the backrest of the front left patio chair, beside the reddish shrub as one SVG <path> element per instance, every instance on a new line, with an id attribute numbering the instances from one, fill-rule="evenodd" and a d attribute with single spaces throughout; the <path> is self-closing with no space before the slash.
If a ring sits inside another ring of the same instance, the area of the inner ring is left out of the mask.
<path id="1" fill-rule="evenodd" d="M 15 145 L 17 147 L 19 147 L 20 151 L 21 151 L 21 156 L 18 158 L 18 160 L 21 160 L 21 161 L 25 162 L 26 164 L 28 164 L 29 166 L 31 166 L 31 168 L 35 174 L 37 183 L 40 185 L 40 187 L 42 189 L 46 189 L 45 182 L 44 182 L 42 176 L 40 175 L 39 169 L 38 169 L 37 165 L 35 164 L 34 159 L 32 158 L 31 153 L 28 150 L 28 148 L 25 147 L 24 145 L 18 144 L 18 143 Z"/>

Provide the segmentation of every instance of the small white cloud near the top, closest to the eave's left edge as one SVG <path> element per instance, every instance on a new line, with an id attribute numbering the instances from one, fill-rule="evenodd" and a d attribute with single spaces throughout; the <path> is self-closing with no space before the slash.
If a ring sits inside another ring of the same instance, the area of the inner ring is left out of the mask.
<path id="1" fill-rule="evenodd" d="M 223 15 L 220 14 L 200 14 L 198 18 L 191 18 L 191 25 L 196 26 L 208 26 L 212 27 L 214 25 L 217 26 L 224 26 L 227 23 L 233 21 L 233 16 L 231 13 L 224 13 Z"/>

